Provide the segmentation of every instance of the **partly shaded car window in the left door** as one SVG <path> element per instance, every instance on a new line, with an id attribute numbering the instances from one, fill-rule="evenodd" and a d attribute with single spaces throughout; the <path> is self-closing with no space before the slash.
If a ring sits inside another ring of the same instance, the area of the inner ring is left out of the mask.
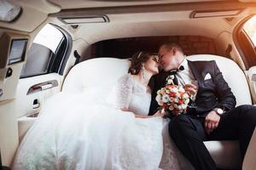
<path id="1" fill-rule="evenodd" d="M 55 26 L 47 24 L 38 32 L 28 50 L 26 64 L 23 66 L 20 77 L 32 77 L 46 74 L 50 71 L 61 43 L 65 39 L 63 33 Z"/>

